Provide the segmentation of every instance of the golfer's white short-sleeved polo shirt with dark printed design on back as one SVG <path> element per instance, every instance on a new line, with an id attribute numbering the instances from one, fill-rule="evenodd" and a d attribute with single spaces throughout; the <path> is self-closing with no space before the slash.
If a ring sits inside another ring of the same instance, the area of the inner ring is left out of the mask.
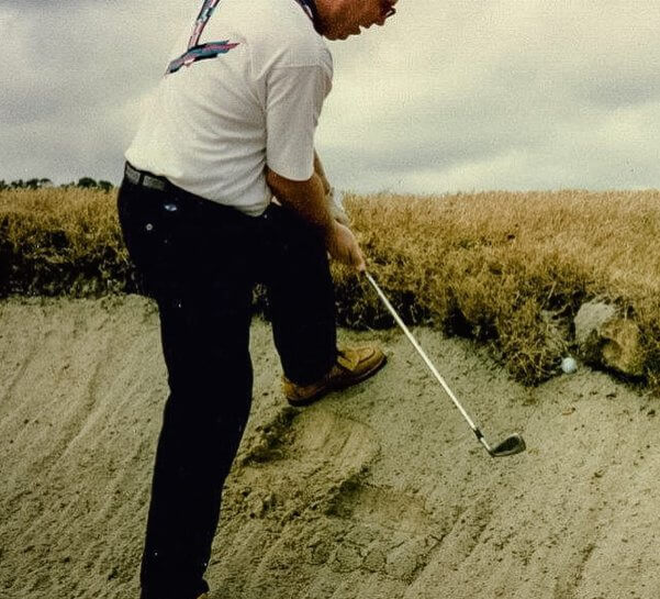
<path id="1" fill-rule="evenodd" d="M 314 171 L 332 56 L 295 0 L 206 0 L 203 8 L 172 51 L 126 159 L 259 215 L 272 197 L 266 166 L 293 180 Z"/>

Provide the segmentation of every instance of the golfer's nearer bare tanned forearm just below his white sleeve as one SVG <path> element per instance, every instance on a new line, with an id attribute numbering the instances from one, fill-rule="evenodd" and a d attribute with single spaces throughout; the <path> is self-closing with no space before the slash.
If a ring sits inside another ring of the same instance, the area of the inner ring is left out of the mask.
<path id="1" fill-rule="evenodd" d="M 333 218 L 325 201 L 323 182 L 316 173 L 306 181 L 293 181 L 268 170 L 266 182 L 282 206 L 318 229 L 324 237 L 331 234 Z"/>

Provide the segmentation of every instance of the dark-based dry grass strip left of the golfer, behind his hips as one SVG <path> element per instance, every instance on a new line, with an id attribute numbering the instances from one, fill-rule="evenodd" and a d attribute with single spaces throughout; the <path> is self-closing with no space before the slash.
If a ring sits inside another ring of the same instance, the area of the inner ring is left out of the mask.
<path id="1" fill-rule="evenodd" d="M 1 191 L 0 296 L 134 290 L 115 207 L 99 190 Z"/>

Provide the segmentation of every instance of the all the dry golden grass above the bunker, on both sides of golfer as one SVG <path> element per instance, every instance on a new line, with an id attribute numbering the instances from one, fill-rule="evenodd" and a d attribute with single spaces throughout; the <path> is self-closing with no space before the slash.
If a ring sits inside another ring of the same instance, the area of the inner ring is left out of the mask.
<path id="1" fill-rule="evenodd" d="M 647 380 L 660 378 L 660 192 L 489 192 L 349 197 L 369 268 L 410 323 L 490 344 L 528 384 L 570 350 L 580 304 L 604 298 L 635 319 Z M 0 292 L 135 289 L 115 195 L 0 193 Z M 391 325 L 367 284 L 335 269 L 339 318 Z"/>

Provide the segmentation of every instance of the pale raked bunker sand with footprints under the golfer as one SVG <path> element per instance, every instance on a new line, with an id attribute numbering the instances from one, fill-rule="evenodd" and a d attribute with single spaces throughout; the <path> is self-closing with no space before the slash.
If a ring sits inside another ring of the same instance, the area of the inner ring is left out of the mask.
<path id="1" fill-rule="evenodd" d="M 0 303 L 0 597 L 136 598 L 166 395 L 138 297 Z M 226 485 L 211 599 L 660 597 L 657 400 L 580 366 L 529 389 L 483 347 L 415 334 L 496 442 L 476 442 L 405 337 L 389 365 L 286 406 L 255 320 L 254 407 Z"/>

